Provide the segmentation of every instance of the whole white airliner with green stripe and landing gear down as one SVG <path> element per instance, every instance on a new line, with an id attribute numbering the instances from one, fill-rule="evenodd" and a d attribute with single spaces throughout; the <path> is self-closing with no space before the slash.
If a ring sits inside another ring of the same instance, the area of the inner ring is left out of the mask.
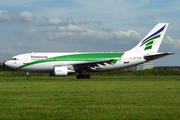
<path id="1" fill-rule="evenodd" d="M 26 53 L 5 61 L 11 69 L 29 72 L 48 72 L 50 76 L 65 77 L 79 72 L 77 79 L 90 79 L 86 72 L 112 71 L 158 59 L 172 52 L 159 53 L 158 49 L 168 23 L 157 24 L 134 48 L 118 53 Z"/>

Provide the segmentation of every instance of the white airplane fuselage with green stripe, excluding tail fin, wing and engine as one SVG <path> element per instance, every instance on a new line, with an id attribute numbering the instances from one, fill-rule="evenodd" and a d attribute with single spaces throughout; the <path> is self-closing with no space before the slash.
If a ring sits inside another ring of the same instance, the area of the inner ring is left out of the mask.
<path id="1" fill-rule="evenodd" d="M 71 57 L 81 54 L 99 54 L 99 57 Z M 27 72 L 52 72 L 55 66 L 73 66 L 75 72 L 78 72 L 84 67 L 83 64 L 87 65 L 89 62 L 112 59 L 109 56 L 101 57 L 101 54 L 105 53 L 27 53 L 14 56 L 11 60 L 6 61 L 5 64 L 14 70 Z M 117 59 L 114 64 L 105 62 L 104 64 L 97 64 L 95 67 L 89 67 L 88 69 L 86 67 L 84 69 L 86 69 L 86 72 L 111 71 L 146 62 L 142 54 L 121 54 L 122 56 L 113 58 Z"/>

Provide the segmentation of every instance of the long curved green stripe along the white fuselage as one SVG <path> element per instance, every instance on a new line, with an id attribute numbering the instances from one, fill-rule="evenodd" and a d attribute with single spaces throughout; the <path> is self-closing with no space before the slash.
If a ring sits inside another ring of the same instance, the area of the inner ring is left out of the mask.
<path id="1" fill-rule="evenodd" d="M 46 63 L 46 62 L 56 62 L 56 61 L 102 61 L 113 58 L 120 58 L 124 53 L 82 53 L 82 54 L 70 54 L 57 57 L 51 57 L 42 60 L 36 60 L 27 64 L 24 64 L 17 69 L 27 67 L 30 65 Z"/>

